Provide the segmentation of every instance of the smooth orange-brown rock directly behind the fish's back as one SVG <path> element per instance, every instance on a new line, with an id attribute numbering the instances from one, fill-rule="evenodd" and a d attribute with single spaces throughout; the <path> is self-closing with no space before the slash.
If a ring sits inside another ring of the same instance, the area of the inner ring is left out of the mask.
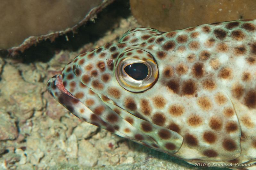
<path id="1" fill-rule="evenodd" d="M 139 24 L 160 31 L 256 18 L 254 0 L 130 0 L 130 5 Z"/>

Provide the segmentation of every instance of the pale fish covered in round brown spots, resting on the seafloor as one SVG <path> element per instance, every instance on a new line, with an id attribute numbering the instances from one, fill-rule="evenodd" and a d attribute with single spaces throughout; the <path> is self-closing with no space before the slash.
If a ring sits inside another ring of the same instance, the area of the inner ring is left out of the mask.
<path id="1" fill-rule="evenodd" d="M 195 166 L 256 168 L 256 20 L 136 27 L 47 82 L 85 122 Z"/>

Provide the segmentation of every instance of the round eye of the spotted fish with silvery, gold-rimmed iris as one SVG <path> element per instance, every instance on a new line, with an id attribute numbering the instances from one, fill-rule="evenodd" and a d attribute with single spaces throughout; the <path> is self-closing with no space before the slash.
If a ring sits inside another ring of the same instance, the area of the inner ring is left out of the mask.
<path id="1" fill-rule="evenodd" d="M 130 92 L 142 92 L 155 84 L 158 68 L 150 53 L 142 49 L 130 49 L 118 58 L 115 75 L 124 89 Z"/>

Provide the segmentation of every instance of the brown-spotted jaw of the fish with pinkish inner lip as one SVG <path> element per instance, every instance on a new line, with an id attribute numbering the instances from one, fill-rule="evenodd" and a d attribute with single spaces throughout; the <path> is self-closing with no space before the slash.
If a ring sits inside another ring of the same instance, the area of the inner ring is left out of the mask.
<path id="1" fill-rule="evenodd" d="M 121 137 L 131 139 L 137 143 L 146 144 L 155 150 L 167 154 L 174 154 L 180 149 L 183 143 L 183 137 L 177 132 L 141 119 L 118 106 L 111 99 L 103 100 L 103 95 L 100 95 L 99 93 L 95 93 L 96 95 L 91 94 L 95 96 L 97 101 L 101 102 L 100 107 L 104 107 L 103 111 L 99 113 L 94 107 L 85 105 L 86 102 L 84 101 L 84 98 L 75 97 L 75 95 L 69 92 L 65 88 L 65 80 L 63 85 L 62 78 L 61 75 L 55 75 L 53 78 L 49 79 L 47 82 L 47 90 L 55 100 L 81 120 L 106 129 Z M 132 120 L 132 122 L 130 120 Z M 152 131 L 144 132 L 141 129 L 143 123 L 150 124 Z M 125 129 L 128 129 L 128 131 Z M 170 145 L 170 149 L 164 147 L 161 148 L 160 146 L 166 143 L 166 141 L 163 141 L 161 138 L 155 138 L 155 134 L 161 129 L 164 129 L 171 134 L 169 137 L 170 142 L 167 143 Z"/>

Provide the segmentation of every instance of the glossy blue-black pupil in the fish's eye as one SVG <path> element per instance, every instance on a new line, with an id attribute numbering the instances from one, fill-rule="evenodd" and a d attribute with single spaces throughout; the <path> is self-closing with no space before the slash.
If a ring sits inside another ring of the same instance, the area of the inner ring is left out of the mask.
<path id="1" fill-rule="evenodd" d="M 125 72 L 135 80 L 143 80 L 148 75 L 148 67 L 143 63 L 133 63 L 124 68 Z"/>

